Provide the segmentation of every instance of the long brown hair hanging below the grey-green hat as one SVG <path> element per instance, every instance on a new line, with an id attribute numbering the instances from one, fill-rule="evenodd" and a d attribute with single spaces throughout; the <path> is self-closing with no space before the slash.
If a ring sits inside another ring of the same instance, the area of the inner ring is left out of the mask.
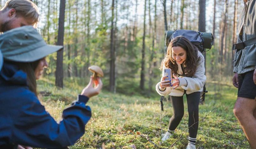
<path id="1" fill-rule="evenodd" d="M 27 84 L 29 86 L 29 90 L 35 93 L 36 96 L 37 96 L 37 90 L 36 90 L 35 69 L 38 66 L 39 62 L 40 60 L 36 60 L 33 62 L 8 61 L 8 63 L 18 66 L 20 70 L 22 70 L 27 74 Z"/>

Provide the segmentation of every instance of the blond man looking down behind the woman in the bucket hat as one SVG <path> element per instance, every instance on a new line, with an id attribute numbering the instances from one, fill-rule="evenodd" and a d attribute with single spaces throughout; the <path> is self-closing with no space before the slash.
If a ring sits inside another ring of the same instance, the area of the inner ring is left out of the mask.
<path id="1" fill-rule="evenodd" d="M 8 0 L 0 10 L 0 32 L 39 22 L 37 6 L 29 0 Z"/>

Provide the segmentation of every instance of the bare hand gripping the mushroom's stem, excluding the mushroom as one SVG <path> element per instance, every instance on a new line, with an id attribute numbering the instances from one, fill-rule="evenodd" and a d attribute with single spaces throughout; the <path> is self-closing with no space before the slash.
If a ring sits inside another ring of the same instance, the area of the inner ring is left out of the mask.
<path id="1" fill-rule="evenodd" d="M 93 87 L 93 84 L 94 84 L 94 87 Z M 91 98 L 100 93 L 102 86 L 103 86 L 103 83 L 101 82 L 101 79 L 99 77 L 97 77 L 96 79 L 93 79 L 93 77 L 91 76 L 90 82 L 83 89 L 81 95 Z"/>

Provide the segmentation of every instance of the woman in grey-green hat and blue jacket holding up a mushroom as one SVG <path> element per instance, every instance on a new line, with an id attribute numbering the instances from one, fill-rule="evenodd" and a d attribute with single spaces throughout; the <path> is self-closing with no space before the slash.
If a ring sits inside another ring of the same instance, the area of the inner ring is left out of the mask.
<path id="1" fill-rule="evenodd" d="M 37 98 L 36 79 L 48 66 L 45 57 L 61 48 L 47 45 L 32 26 L 0 35 L 4 58 L 0 72 L 0 122 L 4 121 L 0 123 L 0 148 L 14 148 L 17 144 L 61 148 L 74 144 L 84 134 L 91 117 L 86 103 L 99 94 L 102 88 L 99 77 L 96 80 L 91 77 L 78 99 L 63 111 L 59 123 Z"/>

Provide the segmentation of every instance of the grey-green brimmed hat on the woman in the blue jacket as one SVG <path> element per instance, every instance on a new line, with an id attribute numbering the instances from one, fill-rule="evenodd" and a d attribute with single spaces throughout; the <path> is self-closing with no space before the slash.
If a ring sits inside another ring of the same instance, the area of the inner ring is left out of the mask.
<path id="1" fill-rule="evenodd" d="M 16 62 L 33 62 L 63 46 L 48 45 L 33 26 L 22 26 L 0 35 L 3 58 Z"/>

